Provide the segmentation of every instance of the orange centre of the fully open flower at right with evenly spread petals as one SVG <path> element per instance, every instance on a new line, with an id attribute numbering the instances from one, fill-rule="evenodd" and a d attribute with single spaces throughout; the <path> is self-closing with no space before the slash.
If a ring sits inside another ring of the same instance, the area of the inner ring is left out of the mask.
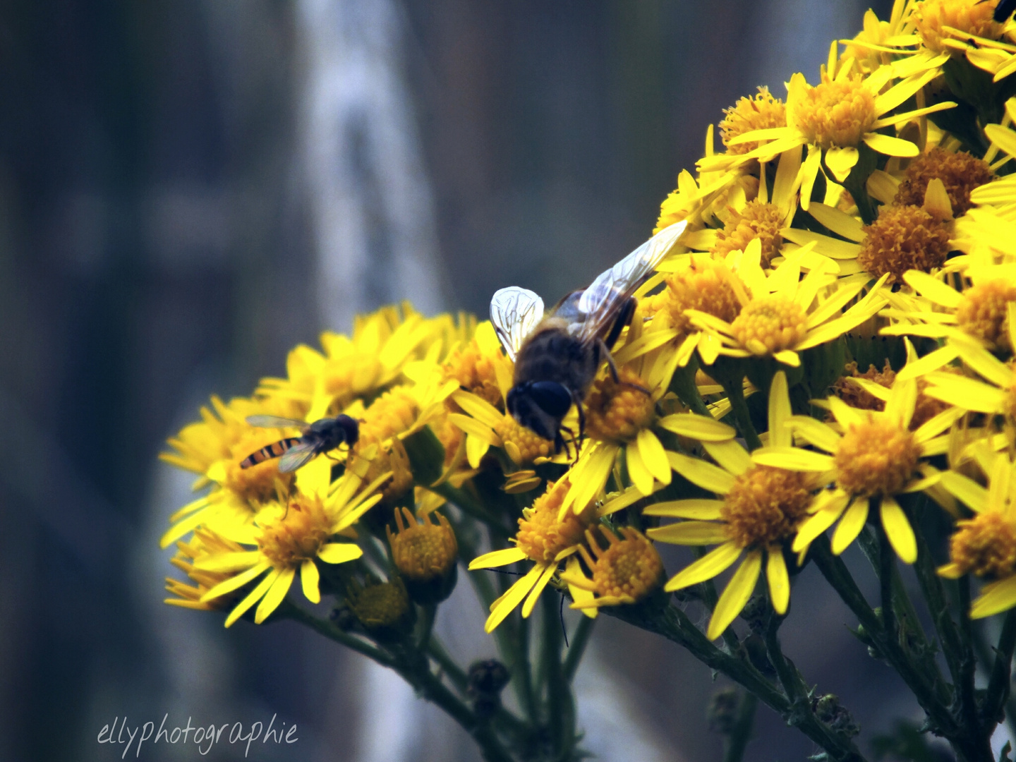
<path id="1" fill-rule="evenodd" d="M 920 445 L 909 430 L 868 415 L 849 425 L 836 448 L 836 484 L 861 497 L 894 495 L 913 473 Z"/>

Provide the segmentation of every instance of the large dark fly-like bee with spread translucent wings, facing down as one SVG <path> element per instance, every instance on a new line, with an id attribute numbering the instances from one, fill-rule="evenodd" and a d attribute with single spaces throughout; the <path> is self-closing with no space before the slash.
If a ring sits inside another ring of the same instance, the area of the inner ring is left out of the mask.
<path id="1" fill-rule="evenodd" d="M 573 291 L 548 314 L 544 301 L 528 289 L 501 289 L 491 300 L 491 322 L 505 354 L 515 363 L 505 403 L 520 426 L 565 446 L 561 422 L 578 406 L 579 436 L 585 431 L 582 401 L 606 361 L 615 380 L 611 348 L 635 311 L 632 296 L 677 243 L 687 223 L 665 228 L 592 283 Z"/>

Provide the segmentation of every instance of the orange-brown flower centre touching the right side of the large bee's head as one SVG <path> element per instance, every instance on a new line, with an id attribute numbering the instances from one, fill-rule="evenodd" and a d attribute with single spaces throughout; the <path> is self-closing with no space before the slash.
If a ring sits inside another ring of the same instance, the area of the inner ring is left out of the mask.
<path id="1" fill-rule="evenodd" d="M 656 416 L 655 403 L 637 373 L 620 368 L 618 378 L 608 374 L 597 379 L 586 397 L 585 431 L 591 439 L 629 442 Z"/>

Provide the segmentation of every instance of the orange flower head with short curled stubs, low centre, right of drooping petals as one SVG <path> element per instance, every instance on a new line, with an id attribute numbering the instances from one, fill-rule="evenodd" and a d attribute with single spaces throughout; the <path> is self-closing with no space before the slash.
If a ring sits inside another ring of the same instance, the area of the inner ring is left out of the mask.
<path id="1" fill-rule="evenodd" d="M 601 597 L 618 598 L 632 604 L 656 589 L 663 578 L 663 562 L 645 535 L 631 526 L 621 527 L 619 537 L 606 526 L 599 526 L 607 541 L 604 550 L 591 529 L 585 532 L 585 547 L 579 553 L 592 573 L 593 591 Z M 591 552 L 591 555 L 590 555 Z"/>

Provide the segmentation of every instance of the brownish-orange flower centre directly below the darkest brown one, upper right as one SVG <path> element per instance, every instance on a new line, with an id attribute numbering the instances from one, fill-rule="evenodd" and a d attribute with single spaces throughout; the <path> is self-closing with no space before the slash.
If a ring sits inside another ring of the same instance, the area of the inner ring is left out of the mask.
<path id="1" fill-rule="evenodd" d="M 948 228 L 919 206 L 883 206 L 864 232 L 858 264 L 876 276 L 890 273 L 889 282 L 941 267 L 950 251 Z"/>

